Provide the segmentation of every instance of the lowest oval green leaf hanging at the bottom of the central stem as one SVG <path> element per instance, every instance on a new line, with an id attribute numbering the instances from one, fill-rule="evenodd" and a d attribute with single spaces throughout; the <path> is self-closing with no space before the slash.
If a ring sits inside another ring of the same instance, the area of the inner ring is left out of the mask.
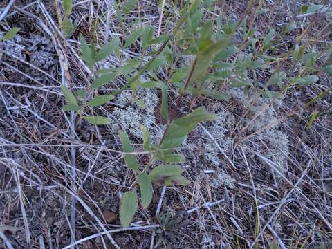
<path id="1" fill-rule="evenodd" d="M 138 208 L 136 190 L 125 192 L 120 201 L 120 221 L 122 227 L 130 225 Z"/>

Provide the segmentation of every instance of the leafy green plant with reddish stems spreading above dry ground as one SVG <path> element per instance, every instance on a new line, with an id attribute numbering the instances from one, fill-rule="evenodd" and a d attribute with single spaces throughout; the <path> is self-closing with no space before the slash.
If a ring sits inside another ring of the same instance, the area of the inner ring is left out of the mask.
<path id="1" fill-rule="evenodd" d="M 115 5 L 120 23 L 122 23 L 122 12 L 124 15 L 128 15 L 135 4 L 136 1 L 125 1 L 122 4 L 122 11 L 118 5 Z M 119 133 L 124 161 L 136 176 L 143 208 L 147 208 L 151 203 L 153 185 L 187 184 L 188 181 L 182 175 L 181 166 L 173 165 L 173 163 L 183 163 L 185 156 L 175 154 L 174 151 L 181 146 L 187 134 L 199 122 L 215 119 L 215 116 L 205 111 L 203 107 L 195 109 L 182 118 L 176 118 L 183 95 L 190 93 L 194 96 L 203 95 L 215 100 L 229 100 L 230 95 L 222 91 L 228 86 L 241 88 L 244 93 L 248 93 L 250 89 L 257 89 L 259 92 L 257 95 L 261 95 L 273 103 L 278 98 L 282 98 L 288 89 L 315 84 L 319 80 L 319 77 L 315 75 L 317 72 L 331 73 L 331 66 L 328 65 L 327 59 L 323 66 L 317 66 L 315 63 L 318 58 L 329 55 L 331 48 L 317 53 L 313 48 L 307 48 L 306 44 L 299 45 L 297 42 L 292 50 L 283 55 L 270 55 L 273 54 L 275 46 L 279 42 L 279 35 L 293 30 L 293 23 L 287 25 L 279 33 L 270 29 L 264 37 L 256 37 L 255 28 L 252 26 L 248 28 L 246 18 L 237 22 L 228 22 L 225 25 L 222 25 L 220 20 L 214 19 L 202 23 L 204 12 L 202 6 L 205 6 L 204 4 L 206 5 L 199 0 L 192 1 L 191 5 L 186 3 L 186 11 L 183 11 L 181 19 L 178 20 L 169 35 L 154 37 L 154 28 L 145 25 L 134 29 L 127 35 L 124 44 L 121 44 L 120 39 L 116 37 L 98 49 L 93 39 L 87 43 L 84 36 L 80 34 L 81 58 L 91 71 L 91 82 L 85 90 L 77 91 L 75 94 L 62 86 L 62 93 L 67 100 L 64 111 L 77 111 L 80 118 L 84 118 L 90 124 L 110 124 L 111 120 L 104 116 L 86 115 L 87 107 L 98 107 L 106 104 L 129 87 L 133 93 L 133 101 L 139 107 L 143 107 L 144 102 L 136 98 L 135 95 L 138 89 L 160 89 L 162 96 L 160 116 L 163 117 L 167 125 L 158 144 L 152 144 L 147 128 L 141 127 L 144 138 L 143 149 L 149 154 L 149 162 L 146 165 L 138 165 L 136 153 L 127 133 L 124 131 Z M 64 6 L 67 6 L 64 12 L 68 19 L 68 13 L 71 12 L 71 1 L 68 1 L 68 4 Z M 307 11 L 308 9 L 302 12 Z M 215 23 L 216 31 L 214 30 Z M 178 32 L 179 30 L 181 32 Z M 298 39 L 301 39 L 305 32 L 306 30 Z M 233 38 L 234 33 L 241 33 L 243 41 L 236 41 Z M 139 44 L 142 55 L 124 62 L 123 50 L 131 48 L 133 44 Z M 175 67 L 174 51 L 176 48 L 181 50 L 181 55 L 193 56 L 194 59 L 189 67 Z M 250 53 L 244 53 L 245 49 L 249 50 Z M 116 68 L 95 70 L 95 65 L 112 53 L 118 57 L 120 65 Z M 232 57 L 232 62 L 230 57 Z M 294 65 L 298 64 L 301 70 L 297 71 L 296 75 L 289 77 L 282 71 L 282 65 L 286 60 Z M 269 70 L 270 64 L 276 65 L 273 71 Z M 167 80 L 160 80 L 158 77 L 157 72 L 160 67 L 167 68 L 171 72 Z M 266 71 L 269 76 L 266 84 L 259 89 L 257 77 L 260 71 Z M 151 80 L 141 82 L 140 76 L 143 74 L 149 75 Z M 95 96 L 91 100 L 86 99 L 86 96 L 91 95 L 90 93 L 95 93 L 95 89 L 100 89 L 116 80 L 117 77 L 126 79 L 126 83 L 120 89 L 111 94 Z M 167 89 L 171 87 L 177 90 L 178 98 L 172 107 L 172 112 L 169 112 Z M 306 107 L 308 105 L 310 103 L 307 103 Z M 255 100 L 252 101 L 249 108 L 252 107 L 255 107 Z M 90 108 L 91 110 L 93 109 Z M 311 118 L 310 123 L 316 117 L 317 115 Z M 255 122 L 255 118 L 248 122 L 240 134 L 250 127 L 251 122 Z M 137 209 L 138 194 L 134 188 L 134 190 L 125 192 L 121 199 L 120 221 L 123 226 L 130 224 Z"/>

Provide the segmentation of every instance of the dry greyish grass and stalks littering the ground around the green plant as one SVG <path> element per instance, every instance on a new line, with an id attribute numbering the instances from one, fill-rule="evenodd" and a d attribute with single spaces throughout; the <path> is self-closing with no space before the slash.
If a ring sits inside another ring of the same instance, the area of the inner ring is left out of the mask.
<path id="1" fill-rule="evenodd" d="M 331 115 L 307 128 L 312 111 L 331 109 L 331 94 L 303 109 L 308 100 L 331 89 L 331 77 L 325 74 L 316 84 L 286 88 L 282 102 L 262 102 L 259 91 L 252 91 L 250 104 L 237 92 L 231 93 L 229 102 L 186 95 L 183 113 L 199 105 L 216 114 L 227 111 L 234 118 L 231 126 L 224 123 L 227 120 L 201 124 L 187 138 L 181 151 L 188 159 L 183 166 L 190 185 L 155 188 L 152 205 L 140 208 L 129 228 L 121 228 L 119 221 L 104 221 L 102 212 L 118 213 L 120 196 L 133 187 L 135 178 L 124 165 L 116 124 L 93 127 L 74 113 L 62 111 L 60 84 L 74 89 L 89 84 L 91 72 L 78 56 L 79 32 L 98 46 L 109 37 L 125 40 L 134 26 L 142 24 L 156 27 L 156 34 L 170 33 L 183 1 L 161 2 L 162 11 L 154 1 L 138 1 L 120 24 L 111 0 L 73 1 L 71 18 L 77 31 L 69 39 L 59 31 L 53 1 L 17 0 L 8 10 L 1 30 L 19 26 L 24 39 L 46 37 L 55 63 L 52 68 L 37 68 L 28 59 L 33 53 L 28 50 L 22 58 L 6 51 L 0 57 L 0 247 L 155 248 L 159 244 L 163 248 L 169 243 L 171 248 L 269 248 L 276 240 L 280 248 L 318 248 L 323 243 L 332 248 Z M 299 36 L 318 51 L 326 44 L 331 46 L 331 17 L 296 17 L 305 1 L 253 2 L 216 1 L 204 18 L 222 15 L 226 22 L 248 16 L 248 26 L 258 27 L 261 37 L 270 27 L 278 30 L 294 19 L 297 28 L 280 37 L 275 53 L 287 53 L 287 44 L 294 44 Z M 61 7 L 61 1 L 55 3 Z M 0 12 L 9 4 L 1 2 Z M 265 12 L 258 14 L 258 9 Z M 241 49 L 246 53 L 244 46 Z M 126 48 L 124 59 L 141 52 L 138 44 Z M 178 64 L 185 63 L 183 57 L 176 59 Z M 98 66 L 120 63 L 110 56 Z M 289 75 L 297 70 L 287 58 L 282 64 L 271 62 L 270 68 L 255 76 L 262 84 L 259 89 L 279 67 Z M 169 75 L 167 70 L 158 71 L 160 79 Z M 119 78 L 100 92 L 111 93 L 124 83 Z M 158 91 L 155 94 L 160 96 Z M 171 89 L 169 94 L 177 93 Z M 261 109 L 250 111 L 250 105 Z M 117 122 L 114 107 L 125 110 L 127 105 L 114 102 L 89 111 Z M 145 112 L 137 111 L 137 115 L 146 118 Z M 165 125 L 158 114 L 149 125 L 160 137 Z M 140 150 L 140 135 L 133 129 L 127 131 Z M 219 137 L 215 131 L 223 133 Z M 279 141 L 276 134 L 286 137 L 287 151 L 273 142 Z M 224 138 L 230 140 L 227 147 Z M 145 152 L 138 156 L 144 163 Z M 225 176 L 230 178 L 221 179 Z M 230 179 L 234 183 L 228 184 Z M 157 217 L 181 212 L 186 215 L 176 223 L 178 236 L 169 230 L 160 234 L 158 228 L 165 224 Z M 181 228 L 186 220 L 191 222 Z"/>

